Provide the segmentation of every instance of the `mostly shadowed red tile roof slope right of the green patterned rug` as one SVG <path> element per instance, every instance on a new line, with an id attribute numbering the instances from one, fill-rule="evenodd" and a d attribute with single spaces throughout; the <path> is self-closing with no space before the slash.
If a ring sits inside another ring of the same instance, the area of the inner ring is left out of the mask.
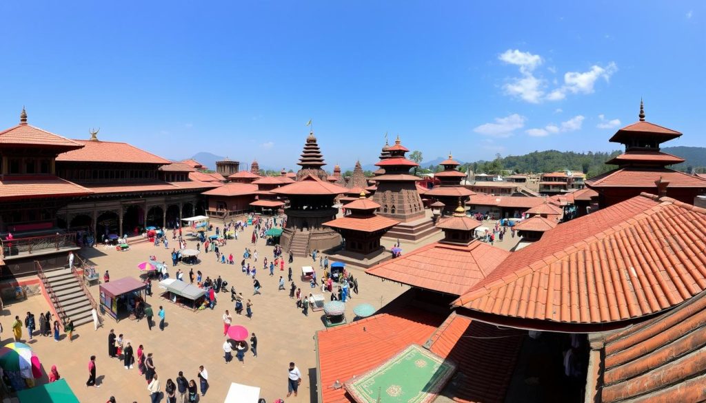
<path id="1" fill-rule="evenodd" d="M 451 313 L 429 338 L 429 351 L 456 364 L 441 395 L 460 403 L 502 403 L 527 332 Z"/>

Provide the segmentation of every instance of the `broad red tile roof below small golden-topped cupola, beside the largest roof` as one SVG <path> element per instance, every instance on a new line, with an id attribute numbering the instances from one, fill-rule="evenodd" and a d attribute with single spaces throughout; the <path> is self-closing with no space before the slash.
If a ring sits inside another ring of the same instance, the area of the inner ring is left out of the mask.
<path id="1" fill-rule="evenodd" d="M 386 260 L 365 272 L 412 287 L 461 295 L 492 272 L 510 252 L 481 241 L 435 242 Z"/>

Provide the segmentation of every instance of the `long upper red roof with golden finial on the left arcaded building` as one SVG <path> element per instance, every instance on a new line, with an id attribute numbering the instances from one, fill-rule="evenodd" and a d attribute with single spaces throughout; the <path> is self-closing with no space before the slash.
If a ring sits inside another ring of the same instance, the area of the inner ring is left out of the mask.
<path id="1" fill-rule="evenodd" d="M 169 160 L 140 150 L 128 143 L 97 140 L 73 140 L 83 144 L 83 148 L 64 152 L 56 157 L 62 162 L 121 162 L 139 164 L 171 164 Z"/>

